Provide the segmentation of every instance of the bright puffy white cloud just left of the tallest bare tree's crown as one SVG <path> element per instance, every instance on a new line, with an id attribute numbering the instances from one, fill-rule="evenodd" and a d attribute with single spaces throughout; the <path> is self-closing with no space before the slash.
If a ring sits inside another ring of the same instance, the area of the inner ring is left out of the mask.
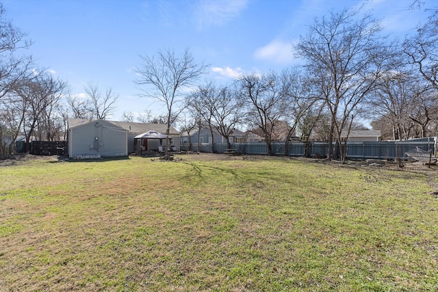
<path id="1" fill-rule="evenodd" d="M 281 40 L 272 40 L 266 46 L 257 49 L 254 57 L 266 61 L 272 61 L 278 64 L 289 64 L 294 60 L 292 53 L 292 44 Z"/>

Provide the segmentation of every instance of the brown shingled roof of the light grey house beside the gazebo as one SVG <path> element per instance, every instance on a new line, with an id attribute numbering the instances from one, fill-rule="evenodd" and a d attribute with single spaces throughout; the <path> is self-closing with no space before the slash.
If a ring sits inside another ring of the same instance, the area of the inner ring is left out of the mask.
<path id="1" fill-rule="evenodd" d="M 94 121 L 95 120 L 69 118 L 68 119 L 68 129 L 80 126 L 81 124 L 87 124 L 89 122 L 94 122 Z M 167 124 L 154 124 L 154 123 L 144 123 L 144 122 L 118 122 L 118 121 L 111 121 L 111 120 L 106 120 L 106 121 L 114 124 L 117 127 L 123 128 L 123 129 L 129 131 L 130 133 L 135 133 L 135 134 L 146 133 L 147 131 L 157 131 L 160 133 L 166 133 L 166 131 L 167 131 Z M 179 132 L 175 128 L 170 127 L 169 135 L 179 135 Z"/>

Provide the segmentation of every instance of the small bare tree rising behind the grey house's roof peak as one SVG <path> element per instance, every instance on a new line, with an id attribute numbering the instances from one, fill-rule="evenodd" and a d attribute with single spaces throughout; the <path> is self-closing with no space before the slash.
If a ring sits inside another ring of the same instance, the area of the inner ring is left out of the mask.
<path id="1" fill-rule="evenodd" d="M 92 105 L 93 118 L 106 120 L 108 116 L 112 115 L 118 100 L 118 94 L 112 88 L 107 88 L 105 94 L 102 94 L 99 90 L 99 85 L 88 82 L 83 86 L 83 90 L 88 94 Z"/>

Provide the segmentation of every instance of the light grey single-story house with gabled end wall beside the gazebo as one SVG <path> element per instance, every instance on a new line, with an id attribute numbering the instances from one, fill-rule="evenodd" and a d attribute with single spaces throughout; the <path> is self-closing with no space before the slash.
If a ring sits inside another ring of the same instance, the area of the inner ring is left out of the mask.
<path id="1" fill-rule="evenodd" d="M 158 140 L 136 140 L 147 131 L 166 133 L 166 124 L 68 119 L 67 153 L 70 157 L 100 155 L 127 156 L 140 150 L 158 150 Z M 170 127 L 170 144 L 179 149 L 179 132 Z M 144 142 L 145 145 L 140 145 Z M 166 141 L 164 141 L 166 145 Z"/>

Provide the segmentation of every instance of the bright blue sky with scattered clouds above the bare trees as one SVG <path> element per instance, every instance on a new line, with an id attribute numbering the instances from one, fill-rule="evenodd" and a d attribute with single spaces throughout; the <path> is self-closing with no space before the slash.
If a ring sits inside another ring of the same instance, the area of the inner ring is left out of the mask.
<path id="1" fill-rule="evenodd" d="M 307 25 L 329 10 L 363 5 L 381 19 L 385 34 L 394 38 L 415 26 L 436 8 L 426 0 L 417 10 L 414 0 L 8 0 L 8 18 L 34 44 L 27 51 L 41 67 L 68 81 L 73 94 L 83 85 L 112 87 L 120 95 L 112 120 L 123 111 L 153 114 L 164 111 L 140 98 L 136 80 L 139 55 L 160 49 L 176 53 L 190 48 L 197 62 L 210 64 L 205 79 L 231 80 L 242 73 L 282 70 L 296 64 L 292 44 Z"/>

